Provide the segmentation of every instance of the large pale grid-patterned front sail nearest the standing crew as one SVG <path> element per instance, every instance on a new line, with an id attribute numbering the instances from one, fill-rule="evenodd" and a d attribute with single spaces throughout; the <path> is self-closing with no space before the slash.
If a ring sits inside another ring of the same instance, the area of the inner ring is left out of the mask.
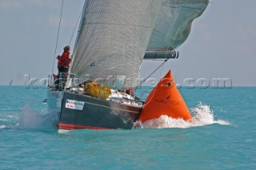
<path id="1" fill-rule="evenodd" d="M 160 6 L 156 0 L 86 1 L 70 73 L 112 88 L 137 85 Z"/>

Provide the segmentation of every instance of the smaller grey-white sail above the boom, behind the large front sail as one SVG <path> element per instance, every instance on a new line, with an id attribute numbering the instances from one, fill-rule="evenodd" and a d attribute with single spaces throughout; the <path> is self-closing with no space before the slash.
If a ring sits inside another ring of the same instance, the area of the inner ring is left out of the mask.
<path id="1" fill-rule="evenodd" d="M 173 50 L 186 41 L 194 18 L 198 18 L 209 0 L 159 0 L 161 9 L 147 51 Z"/>

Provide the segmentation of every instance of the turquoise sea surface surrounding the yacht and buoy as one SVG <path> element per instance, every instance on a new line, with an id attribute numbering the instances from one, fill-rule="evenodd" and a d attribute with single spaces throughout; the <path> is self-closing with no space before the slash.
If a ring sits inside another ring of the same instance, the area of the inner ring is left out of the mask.
<path id="1" fill-rule="evenodd" d="M 0 169 L 255 169 L 256 87 L 180 92 L 191 122 L 58 134 L 45 88 L 0 86 Z"/>

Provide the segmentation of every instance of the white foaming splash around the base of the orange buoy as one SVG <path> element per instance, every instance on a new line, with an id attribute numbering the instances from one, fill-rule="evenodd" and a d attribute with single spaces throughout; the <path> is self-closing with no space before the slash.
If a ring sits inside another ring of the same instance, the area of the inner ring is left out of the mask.
<path id="1" fill-rule="evenodd" d="M 158 119 L 146 121 L 143 124 L 137 121 L 134 124 L 134 128 L 191 128 L 213 124 L 231 125 L 228 121 L 215 120 L 214 112 L 210 110 L 209 105 L 202 105 L 202 103 L 199 103 L 196 108 L 190 109 L 190 112 L 193 117 L 190 121 L 174 119 L 172 117 L 162 115 Z"/>

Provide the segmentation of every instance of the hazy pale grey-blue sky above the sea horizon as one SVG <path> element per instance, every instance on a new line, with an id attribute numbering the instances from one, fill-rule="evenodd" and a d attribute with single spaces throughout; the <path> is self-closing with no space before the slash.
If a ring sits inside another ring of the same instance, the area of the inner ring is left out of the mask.
<path id="1" fill-rule="evenodd" d="M 83 0 L 65 0 L 57 55 L 68 45 L 81 13 Z M 24 85 L 28 78 L 57 73 L 54 55 L 62 0 L 0 0 L 0 85 Z M 233 86 L 256 86 L 256 1 L 211 0 L 194 20 L 189 38 L 154 73 L 157 79 L 171 69 L 176 83 L 216 78 Z M 71 51 L 77 31 L 71 39 Z M 162 61 L 143 61 L 141 77 L 147 77 Z M 201 80 L 201 81 L 200 81 Z"/>

